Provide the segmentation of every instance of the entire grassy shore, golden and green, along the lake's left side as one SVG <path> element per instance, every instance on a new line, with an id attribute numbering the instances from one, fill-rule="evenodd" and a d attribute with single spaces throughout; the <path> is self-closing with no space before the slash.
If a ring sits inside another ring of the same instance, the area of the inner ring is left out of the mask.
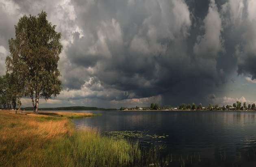
<path id="1" fill-rule="evenodd" d="M 89 113 L 0 111 L 0 166 L 158 166 L 139 143 L 101 136 L 96 129 L 75 130 L 69 118 Z M 152 155 L 150 155 L 152 154 Z"/>

